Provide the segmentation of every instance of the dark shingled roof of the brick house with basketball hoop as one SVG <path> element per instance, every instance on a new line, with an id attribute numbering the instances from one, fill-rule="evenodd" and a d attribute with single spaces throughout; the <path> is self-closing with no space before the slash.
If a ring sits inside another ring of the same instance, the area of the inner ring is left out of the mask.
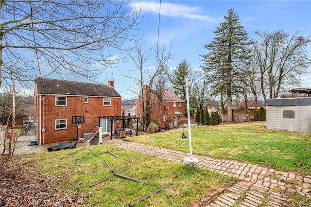
<path id="1" fill-rule="evenodd" d="M 62 94 L 79 96 L 121 97 L 110 85 L 77 81 L 35 78 L 38 94 Z"/>

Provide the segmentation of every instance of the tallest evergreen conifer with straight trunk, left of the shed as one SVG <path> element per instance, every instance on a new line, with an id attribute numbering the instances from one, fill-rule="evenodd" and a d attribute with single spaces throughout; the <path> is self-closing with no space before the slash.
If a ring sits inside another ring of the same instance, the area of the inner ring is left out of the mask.
<path id="1" fill-rule="evenodd" d="M 228 10 L 225 21 L 216 29 L 212 42 L 204 47 L 209 51 L 201 55 L 204 59 L 202 69 L 209 75 L 212 89 L 226 94 L 228 122 L 233 120 L 232 95 L 238 91 L 239 81 L 243 80 L 242 69 L 251 58 L 248 34 L 233 9 Z"/>

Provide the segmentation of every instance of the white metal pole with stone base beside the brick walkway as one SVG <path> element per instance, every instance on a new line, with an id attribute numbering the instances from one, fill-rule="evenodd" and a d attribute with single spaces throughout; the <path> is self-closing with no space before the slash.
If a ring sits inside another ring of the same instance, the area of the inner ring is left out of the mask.
<path id="1" fill-rule="evenodd" d="M 189 137 L 189 156 L 185 157 L 184 161 L 187 168 L 197 168 L 199 160 L 192 155 L 192 146 L 191 146 L 191 126 L 190 126 L 190 105 L 189 105 L 189 86 L 188 86 L 188 77 L 186 76 L 186 99 L 187 99 L 187 117 L 188 117 L 188 137 Z"/>

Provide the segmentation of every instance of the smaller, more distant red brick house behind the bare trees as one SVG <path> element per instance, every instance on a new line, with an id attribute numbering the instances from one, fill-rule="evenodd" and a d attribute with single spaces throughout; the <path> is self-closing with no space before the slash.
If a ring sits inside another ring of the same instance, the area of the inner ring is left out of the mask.
<path id="1" fill-rule="evenodd" d="M 143 95 L 148 93 L 148 85 L 143 86 Z M 178 121 L 185 118 L 185 101 L 172 91 L 150 90 L 150 102 L 145 102 L 145 107 L 150 107 L 151 121 L 159 122 L 162 128 L 172 128 Z M 142 96 L 136 100 L 136 116 L 140 117 L 142 112 Z"/>

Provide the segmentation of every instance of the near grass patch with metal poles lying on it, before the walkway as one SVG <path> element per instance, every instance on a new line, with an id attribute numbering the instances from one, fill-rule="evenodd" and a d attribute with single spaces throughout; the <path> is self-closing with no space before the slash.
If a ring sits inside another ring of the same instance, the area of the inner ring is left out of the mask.
<path id="1" fill-rule="evenodd" d="M 106 149 L 119 149 L 101 145 L 92 146 L 94 152 L 106 152 Z M 122 207 L 129 206 L 141 197 L 173 183 L 172 186 L 152 195 L 149 199 L 139 202 L 137 207 L 181 207 L 213 192 L 218 187 L 229 187 L 237 180 L 203 169 L 186 169 L 185 164 L 161 158 L 141 155 L 132 151 L 114 152 L 119 158 L 108 153 L 91 155 L 86 148 L 68 155 L 78 149 L 63 150 L 50 153 L 25 155 L 23 164 L 37 163 L 37 173 L 52 174 L 58 179 L 55 187 L 77 191 L 87 197 L 83 206 Z M 20 159 L 19 159 L 20 160 Z M 18 159 L 16 160 L 18 161 Z M 123 179 L 117 176 L 89 188 L 89 185 L 111 175 L 107 162 L 115 171 L 130 166 L 120 173 L 151 185 Z"/>

